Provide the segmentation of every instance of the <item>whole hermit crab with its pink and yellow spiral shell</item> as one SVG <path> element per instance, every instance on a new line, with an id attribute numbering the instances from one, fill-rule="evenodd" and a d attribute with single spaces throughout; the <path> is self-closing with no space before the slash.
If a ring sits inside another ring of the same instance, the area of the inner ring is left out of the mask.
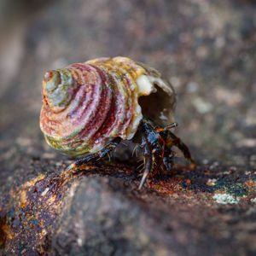
<path id="1" fill-rule="evenodd" d="M 160 165 L 172 168 L 172 146 L 195 165 L 189 148 L 170 131 L 177 126 L 172 85 L 143 63 L 118 56 L 48 71 L 43 103 L 40 127 L 46 142 L 81 157 L 69 168 L 101 159 L 122 140 L 135 137 L 144 156 L 139 189 Z"/>

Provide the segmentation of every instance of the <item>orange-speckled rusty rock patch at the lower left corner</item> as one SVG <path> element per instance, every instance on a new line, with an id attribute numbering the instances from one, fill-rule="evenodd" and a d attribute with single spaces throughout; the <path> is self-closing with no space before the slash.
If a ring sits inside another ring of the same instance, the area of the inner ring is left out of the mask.
<path id="1" fill-rule="evenodd" d="M 0 207 L 0 249 L 3 252 L 44 254 L 43 244 L 71 177 L 71 173 L 41 175 L 10 191 L 9 200 Z"/>

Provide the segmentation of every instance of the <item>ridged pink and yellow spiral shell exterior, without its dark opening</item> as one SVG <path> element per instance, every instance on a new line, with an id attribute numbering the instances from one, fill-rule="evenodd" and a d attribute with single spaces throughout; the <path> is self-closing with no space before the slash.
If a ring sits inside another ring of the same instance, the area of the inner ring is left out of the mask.
<path id="1" fill-rule="evenodd" d="M 143 118 L 137 79 L 144 67 L 125 57 L 100 58 L 45 73 L 40 127 L 47 143 L 81 155 L 113 137 L 131 139 Z M 152 89 L 154 90 L 154 89 Z"/>

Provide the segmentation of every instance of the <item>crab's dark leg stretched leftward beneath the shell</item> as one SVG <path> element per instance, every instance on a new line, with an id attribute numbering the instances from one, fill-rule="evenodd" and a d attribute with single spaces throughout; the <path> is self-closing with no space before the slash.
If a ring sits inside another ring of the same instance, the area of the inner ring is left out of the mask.
<path id="1" fill-rule="evenodd" d="M 77 168 L 79 166 L 83 166 L 84 164 L 86 164 L 90 161 L 102 159 L 105 155 L 107 155 L 114 148 L 116 148 L 119 145 L 120 141 L 121 141 L 120 137 L 114 138 L 111 143 L 108 143 L 107 146 L 105 148 L 103 148 L 102 150 L 100 150 L 99 152 L 97 152 L 95 154 L 86 155 L 85 157 L 80 158 L 79 160 L 76 160 L 72 165 L 68 166 L 67 169 L 70 170 L 73 168 Z"/>

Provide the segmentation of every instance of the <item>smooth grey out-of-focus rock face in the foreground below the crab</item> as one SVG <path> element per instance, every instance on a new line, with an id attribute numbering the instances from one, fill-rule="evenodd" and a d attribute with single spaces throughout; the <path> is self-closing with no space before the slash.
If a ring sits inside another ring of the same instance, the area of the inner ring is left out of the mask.
<path id="1" fill-rule="evenodd" d="M 113 177 L 90 177 L 69 196 L 53 237 L 61 255 L 241 255 L 255 249 L 247 242 L 238 246 L 232 234 L 235 207 L 217 207 L 209 195 L 207 204 L 195 203 L 201 195 L 140 194 Z M 241 212 L 241 218 L 255 218 L 248 207 Z"/>

